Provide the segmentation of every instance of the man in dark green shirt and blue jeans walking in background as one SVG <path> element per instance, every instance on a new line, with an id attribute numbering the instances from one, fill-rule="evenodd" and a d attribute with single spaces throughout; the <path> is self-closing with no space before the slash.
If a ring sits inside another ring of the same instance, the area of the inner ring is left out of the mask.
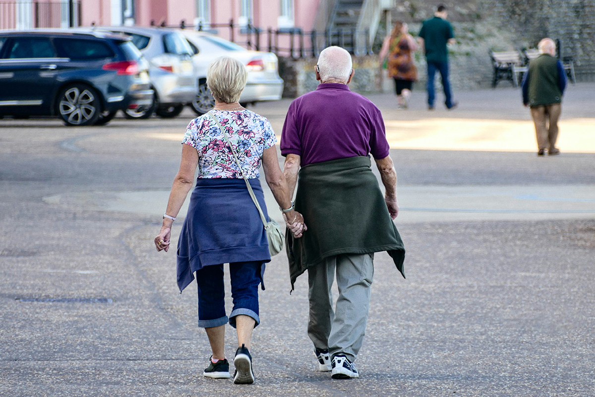
<path id="1" fill-rule="evenodd" d="M 434 76 L 436 71 L 440 72 L 442 86 L 444 87 L 444 96 L 446 97 L 447 109 L 455 108 L 458 104 L 452 100 L 450 91 L 450 82 L 448 80 L 448 49 L 446 44 L 455 43 L 455 33 L 452 26 L 446 20 L 448 13 L 446 6 L 440 4 L 434 12 L 434 18 L 424 21 L 419 31 L 419 44 L 425 51 L 425 60 L 428 62 L 428 109 L 434 109 Z"/>

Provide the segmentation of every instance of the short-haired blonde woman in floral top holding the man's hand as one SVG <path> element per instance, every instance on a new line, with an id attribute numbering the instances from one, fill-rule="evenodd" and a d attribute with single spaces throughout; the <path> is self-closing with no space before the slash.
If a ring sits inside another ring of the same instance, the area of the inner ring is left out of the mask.
<path id="1" fill-rule="evenodd" d="M 293 210 L 289 188 L 279 168 L 277 139 L 271 124 L 238 102 L 246 76 L 244 65 L 232 58 L 221 57 L 209 65 L 206 79 L 215 108 L 192 120 L 186 130 L 180 170 L 171 187 L 163 226 L 155 237 L 157 251 L 167 252 L 171 224 L 192 188 L 198 166 L 199 176 L 178 242 L 177 282 L 181 292 L 196 273 L 198 326 L 205 328 L 212 349 L 211 362 L 203 372 L 205 377 L 230 377 L 224 352 L 225 324 L 229 322 L 236 328 L 234 383 L 254 382 L 250 339 L 252 330 L 260 323 L 258 285 L 264 290 L 265 262 L 271 260 L 261 215 L 243 178 L 249 181 L 268 217 L 258 179 L 262 163 L 287 227 L 296 237 L 306 230 L 302 215 Z M 224 263 L 229 263 L 233 299 L 229 317 L 224 302 Z"/>

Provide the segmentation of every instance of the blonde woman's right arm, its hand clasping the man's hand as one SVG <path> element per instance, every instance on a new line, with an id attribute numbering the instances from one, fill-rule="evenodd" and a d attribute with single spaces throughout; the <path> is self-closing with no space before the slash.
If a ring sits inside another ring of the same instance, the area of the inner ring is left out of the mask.
<path id="1" fill-rule="evenodd" d="M 290 195 L 287 180 L 281 172 L 279 161 L 277 160 L 277 146 L 271 146 L 265 149 L 262 153 L 262 169 L 267 180 L 267 185 L 270 187 L 273 196 L 277 201 L 279 207 L 287 209 L 292 207 L 292 199 Z M 294 185 L 295 186 L 295 185 Z M 296 237 L 302 237 L 302 232 L 308 230 L 303 223 L 302 214 L 297 211 L 283 212 L 287 227 L 292 231 Z"/>

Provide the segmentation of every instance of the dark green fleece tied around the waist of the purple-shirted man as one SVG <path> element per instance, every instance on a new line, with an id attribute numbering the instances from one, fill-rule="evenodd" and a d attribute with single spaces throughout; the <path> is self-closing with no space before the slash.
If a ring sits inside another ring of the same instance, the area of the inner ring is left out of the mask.
<path id="1" fill-rule="evenodd" d="M 299 171 L 295 210 L 308 230 L 286 232 L 289 274 L 297 276 L 324 258 L 387 251 L 405 277 L 405 247 L 372 173 L 369 157 L 308 164 Z"/>

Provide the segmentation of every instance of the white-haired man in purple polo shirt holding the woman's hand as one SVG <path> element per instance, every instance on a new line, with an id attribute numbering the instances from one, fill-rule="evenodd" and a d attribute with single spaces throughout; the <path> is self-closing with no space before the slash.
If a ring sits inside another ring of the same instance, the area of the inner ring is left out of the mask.
<path id="1" fill-rule="evenodd" d="M 380 110 L 347 86 L 354 73 L 349 53 L 325 48 L 315 73 L 320 85 L 292 102 L 281 135 L 284 174 L 292 194 L 297 183 L 295 209 L 308 224 L 300 239 L 287 235 L 287 255 L 292 288 L 308 271 L 308 336 L 318 370 L 350 379 L 359 376 L 353 362 L 364 340 L 374 252 L 389 252 L 405 277 L 405 249 L 392 221 L 399 213 L 397 175 Z"/>

